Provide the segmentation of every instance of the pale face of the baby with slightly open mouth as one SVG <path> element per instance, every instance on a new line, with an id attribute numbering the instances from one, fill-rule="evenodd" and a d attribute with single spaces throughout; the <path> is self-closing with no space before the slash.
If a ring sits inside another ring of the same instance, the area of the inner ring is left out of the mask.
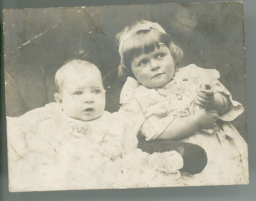
<path id="1" fill-rule="evenodd" d="M 105 90 L 99 71 L 88 68 L 65 77 L 59 93 L 63 111 L 81 121 L 101 116 L 105 109 Z"/>

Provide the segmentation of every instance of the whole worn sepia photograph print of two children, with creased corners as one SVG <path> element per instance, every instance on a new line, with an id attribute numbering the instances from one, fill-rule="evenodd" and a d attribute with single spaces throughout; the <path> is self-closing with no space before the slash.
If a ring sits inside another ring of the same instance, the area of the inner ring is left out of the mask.
<path id="1" fill-rule="evenodd" d="M 241 2 L 3 11 L 10 192 L 249 184 Z"/>

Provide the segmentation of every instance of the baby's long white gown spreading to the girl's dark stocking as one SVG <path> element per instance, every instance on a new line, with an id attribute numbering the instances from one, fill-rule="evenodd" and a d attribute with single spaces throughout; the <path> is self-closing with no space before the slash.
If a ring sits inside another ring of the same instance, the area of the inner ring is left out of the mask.
<path id="1" fill-rule="evenodd" d="M 99 118 L 84 122 L 67 116 L 57 103 L 20 117 L 7 117 L 9 190 L 184 185 L 180 183 L 180 154 L 172 151 L 149 155 L 135 146 L 125 146 L 124 150 L 125 132 L 136 131 L 119 113 L 104 111 Z M 120 147 L 122 159 L 103 157 L 103 143 Z"/>

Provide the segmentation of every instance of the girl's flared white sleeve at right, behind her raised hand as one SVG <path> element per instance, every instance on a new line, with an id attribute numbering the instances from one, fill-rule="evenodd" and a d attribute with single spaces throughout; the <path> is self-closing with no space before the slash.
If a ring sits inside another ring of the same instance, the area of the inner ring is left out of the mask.
<path id="1" fill-rule="evenodd" d="M 224 87 L 224 85 L 221 84 L 221 82 L 218 82 L 216 85 L 214 85 L 212 90 L 214 92 L 225 94 L 231 102 L 230 110 L 227 113 L 220 115 L 219 119 L 227 122 L 233 121 L 244 111 L 243 105 L 232 99 L 231 93 L 227 90 L 227 88 Z"/>

